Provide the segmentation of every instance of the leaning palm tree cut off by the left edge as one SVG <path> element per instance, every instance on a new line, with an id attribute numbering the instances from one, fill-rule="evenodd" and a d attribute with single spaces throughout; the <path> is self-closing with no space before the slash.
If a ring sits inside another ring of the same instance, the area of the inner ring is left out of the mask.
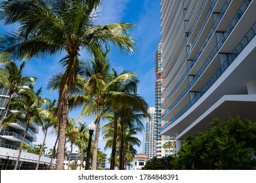
<path id="1" fill-rule="evenodd" d="M 23 76 L 22 71 L 25 67 L 25 62 L 23 62 L 20 67 L 16 65 L 13 61 L 5 61 L 5 67 L 0 68 L 0 87 L 9 90 L 9 97 L 3 110 L 3 117 L 0 122 L 0 129 L 3 125 L 5 116 L 7 114 L 7 109 L 11 101 L 12 95 L 17 93 L 22 86 L 32 87 L 33 82 L 35 82 L 34 77 Z"/>

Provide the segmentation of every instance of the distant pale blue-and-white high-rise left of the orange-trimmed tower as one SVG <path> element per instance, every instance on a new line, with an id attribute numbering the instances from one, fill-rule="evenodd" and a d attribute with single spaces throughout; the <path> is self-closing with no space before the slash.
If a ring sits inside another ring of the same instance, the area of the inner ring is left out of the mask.
<path id="1" fill-rule="evenodd" d="M 156 156 L 156 108 L 148 108 L 148 114 L 150 114 L 150 118 L 144 119 L 143 153 L 153 158 Z"/>

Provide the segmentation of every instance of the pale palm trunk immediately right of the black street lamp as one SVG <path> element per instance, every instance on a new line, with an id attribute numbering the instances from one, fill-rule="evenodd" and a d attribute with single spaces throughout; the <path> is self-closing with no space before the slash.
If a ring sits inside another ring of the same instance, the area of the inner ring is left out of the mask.
<path id="1" fill-rule="evenodd" d="M 93 144 L 93 160 L 91 163 L 92 170 L 97 169 L 97 153 L 98 153 L 98 138 L 100 136 L 100 105 L 97 105 L 97 125 L 95 132 L 95 143 Z"/>

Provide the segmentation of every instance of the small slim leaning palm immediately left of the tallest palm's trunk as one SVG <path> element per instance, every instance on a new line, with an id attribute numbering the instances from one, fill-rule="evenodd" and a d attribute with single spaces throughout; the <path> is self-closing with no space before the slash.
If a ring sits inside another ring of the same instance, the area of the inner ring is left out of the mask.
<path id="1" fill-rule="evenodd" d="M 43 137 L 43 144 L 41 144 L 39 158 L 37 160 L 37 166 L 35 167 L 35 170 L 38 170 L 38 168 L 39 168 L 40 159 L 41 159 L 41 156 L 42 156 L 42 153 L 43 153 L 43 149 L 44 149 L 44 146 L 45 146 L 45 140 L 46 140 L 46 137 L 47 137 L 47 131 L 48 131 L 49 127 L 56 124 L 56 120 L 57 120 L 56 119 L 56 100 L 54 100 L 52 102 L 49 99 L 44 99 L 43 101 L 47 102 L 46 107 L 45 108 L 38 108 L 38 110 L 39 110 L 39 115 L 43 119 L 43 120 L 39 121 L 39 124 L 41 125 L 41 127 L 43 129 L 43 133 L 45 135 Z"/>

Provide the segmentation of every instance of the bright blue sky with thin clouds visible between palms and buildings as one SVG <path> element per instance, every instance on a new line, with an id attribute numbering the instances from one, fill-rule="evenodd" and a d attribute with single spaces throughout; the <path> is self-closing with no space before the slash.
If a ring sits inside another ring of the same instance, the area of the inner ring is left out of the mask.
<path id="1" fill-rule="evenodd" d="M 118 2 L 118 3 L 117 3 Z M 160 41 L 160 0 L 103 0 L 102 10 L 98 16 L 98 24 L 110 24 L 129 22 L 135 24 L 135 29 L 131 34 L 139 42 L 137 52 L 131 56 L 123 56 L 117 48 L 110 51 L 110 61 L 119 73 L 123 70 L 132 71 L 137 74 L 140 84 L 138 93 L 146 99 L 150 107 L 154 107 L 154 59 L 156 46 Z M 0 30 L 10 30 L 3 27 L 1 22 Z M 86 53 L 83 54 L 86 59 Z M 46 90 L 46 84 L 51 75 L 61 71 L 58 60 L 62 58 L 59 55 L 52 56 L 45 60 L 35 59 L 26 63 L 24 75 L 35 76 L 38 78 L 35 88 L 43 87 L 43 97 L 50 99 L 58 98 L 56 92 Z M 70 118 L 75 120 L 80 114 L 80 110 L 70 112 Z M 84 118 L 81 122 L 89 124 L 92 118 Z M 56 135 L 48 135 L 46 146 L 52 148 Z M 142 134 L 139 135 L 142 142 Z M 37 144 L 43 141 L 42 133 L 39 134 Z M 104 142 L 100 138 L 99 147 L 103 150 Z M 142 145 L 137 148 L 142 152 Z M 107 154 L 110 154 L 109 151 Z"/>

